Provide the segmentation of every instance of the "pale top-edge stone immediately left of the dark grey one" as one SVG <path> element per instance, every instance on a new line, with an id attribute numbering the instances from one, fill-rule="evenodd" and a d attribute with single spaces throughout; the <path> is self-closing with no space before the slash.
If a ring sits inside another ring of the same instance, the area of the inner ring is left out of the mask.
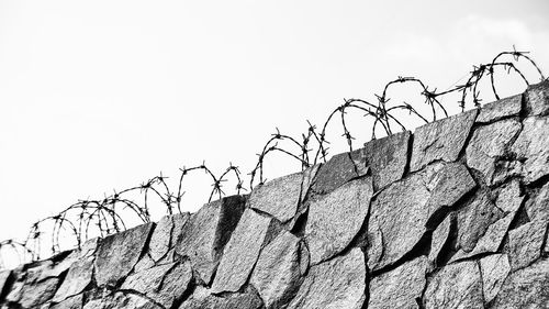
<path id="1" fill-rule="evenodd" d="M 301 195 L 302 173 L 272 179 L 254 188 L 248 207 L 267 212 L 281 222 L 293 218 Z"/>

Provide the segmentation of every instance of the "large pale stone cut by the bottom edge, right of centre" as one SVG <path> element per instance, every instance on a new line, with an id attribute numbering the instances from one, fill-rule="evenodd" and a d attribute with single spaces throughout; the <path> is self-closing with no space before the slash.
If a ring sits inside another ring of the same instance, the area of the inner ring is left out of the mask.
<path id="1" fill-rule="evenodd" d="M 289 308 L 362 308 L 365 280 L 365 256 L 360 249 L 352 249 L 344 256 L 311 267 Z"/>

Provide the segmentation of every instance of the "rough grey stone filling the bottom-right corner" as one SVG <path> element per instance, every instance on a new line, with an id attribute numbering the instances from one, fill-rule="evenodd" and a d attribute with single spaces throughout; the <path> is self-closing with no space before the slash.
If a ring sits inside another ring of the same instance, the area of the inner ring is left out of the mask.
<path id="1" fill-rule="evenodd" d="M 549 308 L 549 258 L 509 275 L 490 308 Z"/>

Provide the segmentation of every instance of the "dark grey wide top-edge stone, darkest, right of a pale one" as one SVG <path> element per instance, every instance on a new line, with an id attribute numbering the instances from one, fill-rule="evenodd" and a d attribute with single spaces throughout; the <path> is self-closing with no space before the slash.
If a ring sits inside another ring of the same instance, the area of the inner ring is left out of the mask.
<path id="1" fill-rule="evenodd" d="M 368 167 L 363 150 L 357 150 L 350 154 L 337 154 L 321 165 L 312 190 L 325 195 L 354 178 L 365 176 L 367 173 Z"/>

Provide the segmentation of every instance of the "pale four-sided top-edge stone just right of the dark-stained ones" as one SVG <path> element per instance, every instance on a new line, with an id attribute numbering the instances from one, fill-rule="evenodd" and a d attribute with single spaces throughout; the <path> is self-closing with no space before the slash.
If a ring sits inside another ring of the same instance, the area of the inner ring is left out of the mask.
<path id="1" fill-rule="evenodd" d="M 456 161 L 469 136 L 477 113 L 477 110 L 471 110 L 417 128 L 410 169 L 418 170 L 438 159 Z"/>

